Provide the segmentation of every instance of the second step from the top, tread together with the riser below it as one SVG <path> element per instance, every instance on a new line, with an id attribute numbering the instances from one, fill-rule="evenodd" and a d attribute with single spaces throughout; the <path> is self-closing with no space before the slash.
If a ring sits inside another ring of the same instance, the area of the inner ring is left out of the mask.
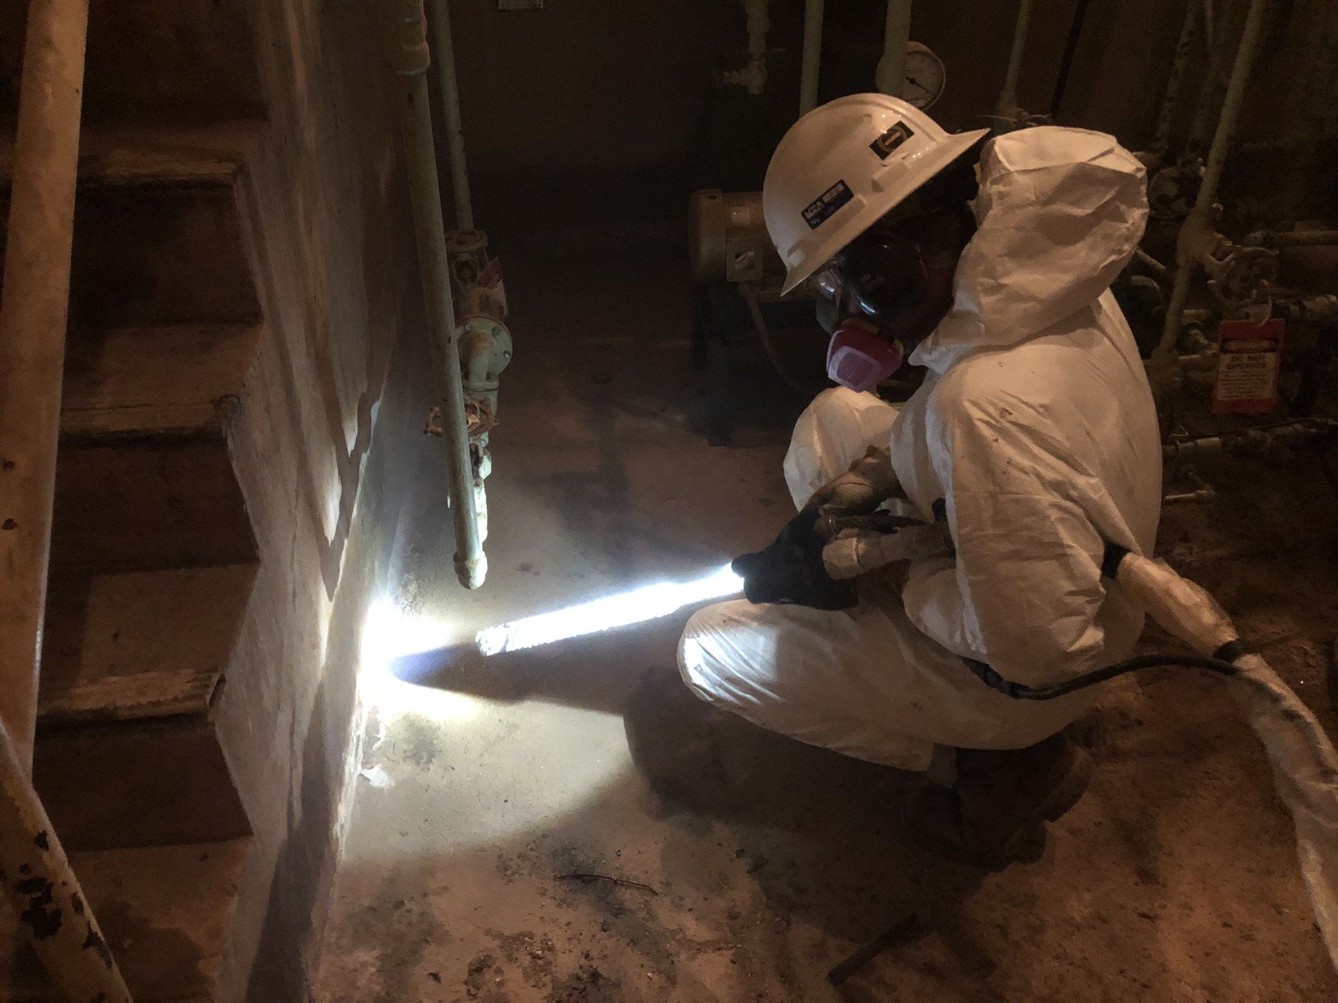
<path id="1" fill-rule="evenodd" d="M 261 336 L 258 325 L 72 332 L 56 564 L 173 567 L 254 556 L 227 432 Z"/>

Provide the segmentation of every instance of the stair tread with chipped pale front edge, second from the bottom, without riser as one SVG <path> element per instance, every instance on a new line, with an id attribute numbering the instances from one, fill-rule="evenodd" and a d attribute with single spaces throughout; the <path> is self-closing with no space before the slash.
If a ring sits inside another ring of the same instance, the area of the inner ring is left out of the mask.
<path id="1" fill-rule="evenodd" d="M 206 714 L 254 578 L 256 564 L 58 574 L 40 725 Z"/>

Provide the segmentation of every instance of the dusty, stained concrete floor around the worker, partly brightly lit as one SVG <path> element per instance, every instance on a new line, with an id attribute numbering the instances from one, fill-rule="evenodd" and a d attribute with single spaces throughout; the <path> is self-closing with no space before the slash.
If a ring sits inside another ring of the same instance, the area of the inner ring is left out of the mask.
<path id="1" fill-rule="evenodd" d="M 787 518 L 796 405 L 759 370 L 772 413 L 745 408 L 735 447 L 705 444 L 688 417 L 700 393 L 678 261 L 507 262 L 518 350 L 494 440 L 491 575 L 472 595 L 454 583 L 425 443 L 404 611 L 379 630 L 387 651 L 428 653 L 369 683 L 380 706 L 318 1000 L 1338 999 L 1290 824 L 1211 679 L 1112 685 L 1086 728 L 1086 797 L 1036 863 L 982 873 L 898 837 L 891 772 L 657 717 L 686 611 L 471 653 L 480 627 L 702 575 Z M 1226 497 L 1169 510 L 1163 550 L 1333 725 L 1333 495 L 1302 465 L 1262 469 L 1206 469 Z M 702 737 L 672 782 L 646 780 L 638 761 Z M 910 913 L 894 947 L 828 986 Z"/>

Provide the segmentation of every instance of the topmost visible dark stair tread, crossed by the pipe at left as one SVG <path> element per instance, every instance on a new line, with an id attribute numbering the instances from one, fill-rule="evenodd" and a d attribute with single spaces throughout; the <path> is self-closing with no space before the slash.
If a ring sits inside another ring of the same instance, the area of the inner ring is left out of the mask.
<path id="1" fill-rule="evenodd" d="M 79 135 L 80 185 L 231 185 L 265 120 L 205 124 L 86 124 Z M 8 186 L 13 132 L 0 135 L 0 178 Z"/>

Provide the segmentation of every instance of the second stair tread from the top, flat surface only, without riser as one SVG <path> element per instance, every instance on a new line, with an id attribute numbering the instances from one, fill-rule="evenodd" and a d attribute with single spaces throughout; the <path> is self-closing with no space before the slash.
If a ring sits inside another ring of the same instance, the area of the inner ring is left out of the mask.
<path id="1" fill-rule="evenodd" d="M 217 432 L 241 395 L 260 325 L 108 328 L 71 336 L 66 437 Z"/>

